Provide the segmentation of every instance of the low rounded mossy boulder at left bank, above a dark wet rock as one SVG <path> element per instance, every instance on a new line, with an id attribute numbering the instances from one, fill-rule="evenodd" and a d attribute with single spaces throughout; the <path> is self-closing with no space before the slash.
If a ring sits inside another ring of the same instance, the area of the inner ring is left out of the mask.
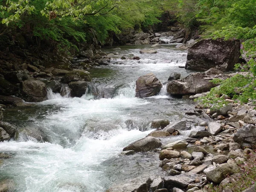
<path id="1" fill-rule="evenodd" d="M 90 76 L 84 72 L 70 72 L 61 78 L 62 83 L 70 83 L 72 81 L 91 81 Z"/>

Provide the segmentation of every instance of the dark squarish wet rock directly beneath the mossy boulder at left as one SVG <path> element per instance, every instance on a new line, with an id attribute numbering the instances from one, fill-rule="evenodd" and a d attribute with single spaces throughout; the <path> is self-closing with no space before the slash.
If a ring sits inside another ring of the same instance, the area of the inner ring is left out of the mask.
<path id="1" fill-rule="evenodd" d="M 71 97 L 81 97 L 86 93 L 87 82 L 85 81 L 73 81 L 68 84 L 70 87 L 70 96 Z"/>

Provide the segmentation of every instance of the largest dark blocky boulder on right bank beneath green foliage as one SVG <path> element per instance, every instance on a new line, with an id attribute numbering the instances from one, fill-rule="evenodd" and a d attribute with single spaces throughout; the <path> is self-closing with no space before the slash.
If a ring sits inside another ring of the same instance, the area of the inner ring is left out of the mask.
<path id="1" fill-rule="evenodd" d="M 221 71 L 233 70 L 239 62 L 240 41 L 203 39 L 189 48 L 186 69 L 208 70 L 216 67 Z"/>

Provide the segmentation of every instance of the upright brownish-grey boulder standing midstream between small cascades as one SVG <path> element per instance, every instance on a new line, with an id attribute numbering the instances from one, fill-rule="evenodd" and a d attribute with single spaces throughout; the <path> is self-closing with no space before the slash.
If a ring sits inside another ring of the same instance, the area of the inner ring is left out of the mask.
<path id="1" fill-rule="evenodd" d="M 157 95 L 163 84 L 153 73 L 141 76 L 136 81 L 136 97 L 150 97 Z"/>

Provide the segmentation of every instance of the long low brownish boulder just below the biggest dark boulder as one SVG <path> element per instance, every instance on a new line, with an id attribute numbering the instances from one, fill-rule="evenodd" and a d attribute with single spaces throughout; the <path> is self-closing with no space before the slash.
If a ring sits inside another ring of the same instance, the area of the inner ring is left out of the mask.
<path id="1" fill-rule="evenodd" d="M 210 82 L 212 79 L 226 79 L 226 76 L 206 76 L 204 73 L 192 73 L 184 79 L 169 81 L 167 92 L 171 95 L 195 95 L 209 91 L 216 84 Z"/>

